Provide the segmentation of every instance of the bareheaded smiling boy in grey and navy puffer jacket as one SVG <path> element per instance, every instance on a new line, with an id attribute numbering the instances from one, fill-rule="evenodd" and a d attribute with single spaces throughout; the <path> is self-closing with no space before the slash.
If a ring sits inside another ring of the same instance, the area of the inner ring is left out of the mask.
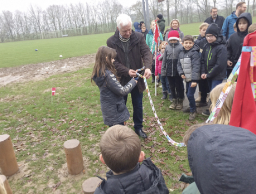
<path id="1" fill-rule="evenodd" d="M 186 95 L 189 100 L 189 120 L 196 118 L 196 101 L 194 94 L 197 89 L 197 83 L 200 80 L 200 55 L 199 47 L 194 44 L 194 38 L 186 35 L 183 38 L 183 49 L 180 49 L 177 69 L 179 76 L 186 82 Z"/>

